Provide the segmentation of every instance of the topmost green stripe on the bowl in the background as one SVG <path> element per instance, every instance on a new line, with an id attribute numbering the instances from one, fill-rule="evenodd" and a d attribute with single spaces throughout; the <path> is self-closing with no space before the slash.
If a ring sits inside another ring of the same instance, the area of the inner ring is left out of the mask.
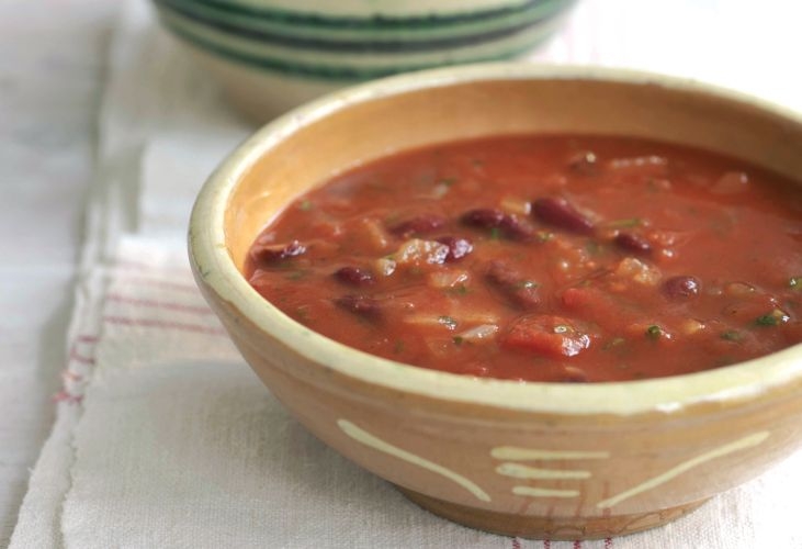
<path id="1" fill-rule="evenodd" d="M 262 8 L 241 4 L 237 2 L 229 2 L 225 0 L 195 0 L 199 4 L 206 4 L 214 7 L 219 11 L 229 13 L 238 13 L 241 15 L 248 15 L 251 18 L 260 18 L 263 20 L 274 21 L 282 24 L 292 25 L 306 25 L 313 27 L 350 27 L 350 29 L 372 29 L 372 30 L 387 30 L 394 27 L 404 26 L 442 26 L 461 24 L 470 21 L 477 21 L 482 19 L 499 16 L 499 15 L 515 15 L 524 12 L 526 10 L 534 7 L 539 3 L 543 3 L 544 0 L 526 0 L 523 2 L 517 2 L 506 8 L 492 8 L 486 10 L 476 10 L 472 12 L 460 12 L 452 15 L 442 14 L 421 14 L 411 16 L 373 16 L 373 18 L 355 18 L 355 16 L 337 16 L 327 15 L 325 13 L 312 14 L 300 11 L 282 10 L 276 8 Z M 331 0 L 334 1 L 334 0 Z"/>

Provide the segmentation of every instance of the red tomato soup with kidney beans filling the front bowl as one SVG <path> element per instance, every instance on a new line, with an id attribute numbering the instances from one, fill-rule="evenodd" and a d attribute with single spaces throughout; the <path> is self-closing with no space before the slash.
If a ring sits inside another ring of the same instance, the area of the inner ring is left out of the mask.
<path id="1" fill-rule="evenodd" d="M 251 285 L 351 347 L 448 372 L 603 382 L 802 340 L 802 190 L 610 136 L 504 136 L 380 159 L 291 204 Z"/>

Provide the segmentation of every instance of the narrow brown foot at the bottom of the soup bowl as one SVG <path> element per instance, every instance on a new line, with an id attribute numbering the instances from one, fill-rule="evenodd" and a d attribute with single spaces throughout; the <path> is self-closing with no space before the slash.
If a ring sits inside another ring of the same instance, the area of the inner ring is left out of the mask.
<path id="1" fill-rule="evenodd" d="M 624 536 L 662 526 L 697 509 L 708 500 L 667 509 L 601 517 L 538 517 L 478 509 L 430 497 L 396 486 L 408 500 L 426 511 L 479 530 L 529 539 L 579 540 Z"/>

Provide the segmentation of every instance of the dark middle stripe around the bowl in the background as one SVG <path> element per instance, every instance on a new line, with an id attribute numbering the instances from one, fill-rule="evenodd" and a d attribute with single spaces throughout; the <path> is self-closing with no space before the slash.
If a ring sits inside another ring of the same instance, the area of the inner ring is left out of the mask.
<path id="1" fill-rule="evenodd" d="M 527 11 L 509 15 L 472 20 L 460 25 L 430 27 L 397 27 L 376 31 L 373 29 L 309 29 L 300 25 L 279 24 L 269 20 L 219 12 L 196 0 L 155 0 L 162 8 L 169 8 L 199 23 L 214 26 L 221 31 L 250 36 L 263 42 L 294 45 L 295 47 L 344 49 L 414 49 L 419 44 L 428 48 L 436 41 L 476 40 L 492 33 L 512 32 L 540 20 L 558 14 L 569 8 L 575 0 L 543 0 Z M 410 44 L 414 44 L 410 46 Z"/>

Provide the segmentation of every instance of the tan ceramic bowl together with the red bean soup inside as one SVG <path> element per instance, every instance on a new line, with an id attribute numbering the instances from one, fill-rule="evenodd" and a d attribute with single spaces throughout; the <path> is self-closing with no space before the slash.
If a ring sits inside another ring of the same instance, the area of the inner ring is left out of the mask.
<path id="1" fill-rule="evenodd" d="M 327 96 L 211 176 L 195 279 L 315 436 L 507 535 L 659 526 L 802 444 L 802 117 L 498 64 Z"/>

